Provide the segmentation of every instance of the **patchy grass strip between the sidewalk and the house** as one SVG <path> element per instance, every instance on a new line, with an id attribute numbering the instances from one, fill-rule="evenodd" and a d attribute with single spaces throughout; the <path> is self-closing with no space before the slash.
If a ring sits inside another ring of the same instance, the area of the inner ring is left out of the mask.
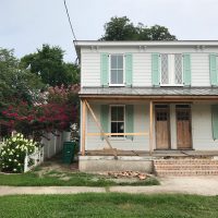
<path id="1" fill-rule="evenodd" d="M 159 182 L 155 178 L 142 181 L 118 181 L 111 180 L 107 175 L 90 174 L 83 172 L 64 172 L 58 170 L 39 173 L 40 170 L 24 174 L 0 174 L 0 185 L 14 186 L 110 186 L 110 185 L 157 185 Z"/>

